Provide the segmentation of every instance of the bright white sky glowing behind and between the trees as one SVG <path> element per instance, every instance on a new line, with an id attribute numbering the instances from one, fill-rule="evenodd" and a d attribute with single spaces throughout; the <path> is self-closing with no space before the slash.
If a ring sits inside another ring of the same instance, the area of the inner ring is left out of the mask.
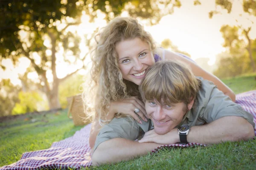
<path id="1" fill-rule="evenodd" d="M 176 45 L 181 51 L 186 51 L 196 60 L 201 57 L 209 58 L 209 65 L 215 64 L 215 58 L 218 54 L 225 51 L 222 47 L 224 42 L 220 28 L 222 25 L 242 25 L 244 28 L 252 26 L 252 23 L 247 20 L 253 20 L 256 23 L 256 17 L 249 16 L 243 12 L 242 0 L 233 0 L 233 9 L 231 14 L 227 14 L 227 10 L 222 10 L 222 14 L 216 14 L 209 19 L 208 13 L 215 9 L 215 0 L 201 0 L 201 5 L 194 6 L 193 0 L 180 0 L 182 6 L 175 8 L 174 13 L 163 17 L 160 23 L 155 26 L 144 26 L 145 30 L 151 33 L 154 40 L 160 44 L 164 39 L 169 38 L 174 45 Z M 239 16 L 242 14 L 242 17 Z M 125 16 L 125 13 L 123 14 Z M 78 27 L 70 27 L 70 30 L 77 30 L 79 36 L 81 36 L 81 49 L 80 56 L 83 57 L 87 52 L 87 48 L 84 48 L 83 37 L 84 34 L 92 33 L 97 27 L 103 27 L 106 22 L 102 20 L 104 16 L 99 15 L 99 19 L 96 23 L 88 23 L 89 17 L 85 14 L 82 15 L 82 23 Z M 236 22 L 238 20 L 238 22 Z M 60 26 L 61 27 L 61 26 Z M 256 38 L 256 27 L 252 27 L 250 31 L 250 37 Z M 44 45 L 49 45 L 49 42 L 45 40 Z M 50 51 L 48 51 L 50 53 Z M 35 59 L 40 60 L 37 54 L 33 54 Z M 81 63 L 75 65 L 67 65 L 62 62 L 63 50 L 56 54 L 57 57 L 57 77 L 62 78 L 67 74 L 75 71 L 81 67 Z M 70 56 L 70 60 L 74 57 Z M 88 60 L 89 61 L 89 60 Z M 26 71 L 30 62 L 26 58 L 21 58 L 17 67 L 14 67 L 10 59 L 3 59 L 2 64 L 6 66 L 6 70 L 3 71 L 0 68 L 0 81 L 1 79 L 10 78 L 14 85 L 20 84 L 18 80 L 18 73 L 21 75 Z M 84 74 L 81 71 L 80 74 Z M 35 79 L 36 73 L 30 73 L 29 78 Z M 47 78 L 49 82 L 52 81 L 51 71 L 47 71 Z"/>

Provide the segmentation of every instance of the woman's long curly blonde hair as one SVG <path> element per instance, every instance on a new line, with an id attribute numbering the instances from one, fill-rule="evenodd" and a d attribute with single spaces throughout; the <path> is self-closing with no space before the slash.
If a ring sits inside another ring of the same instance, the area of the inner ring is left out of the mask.
<path id="1" fill-rule="evenodd" d="M 93 119 L 105 119 L 111 101 L 138 94 L 138 86 L 122 78 L 116 44 L 123 40 L 140 38 L 148 43 L 150 51 L 155 50 L 155 44 L 143 26 L 130 17 L 114 18 L 98 35 L 99 40 L 96 40 L 97 45 L 91 53 L 93 65 L 90 72 L 90 92 L 94 96 L 94 111 L 89 116 L 94 116 Z M 87 99 L 84 98 L 85 100 Z"/>

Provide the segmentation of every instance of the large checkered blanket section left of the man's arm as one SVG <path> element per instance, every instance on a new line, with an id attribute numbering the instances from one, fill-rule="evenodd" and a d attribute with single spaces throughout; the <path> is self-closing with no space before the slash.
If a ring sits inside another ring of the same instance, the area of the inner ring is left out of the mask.
<path id="1" fill-rule="evenodd" d="M 24 153 L 19 161 L 3 166 L 0 170 L 90 167 L 92 165 L 89 147 L 90 127 L 91 124 L 86 125 L 72 137 L 53 142 L 49 149 Z"/>

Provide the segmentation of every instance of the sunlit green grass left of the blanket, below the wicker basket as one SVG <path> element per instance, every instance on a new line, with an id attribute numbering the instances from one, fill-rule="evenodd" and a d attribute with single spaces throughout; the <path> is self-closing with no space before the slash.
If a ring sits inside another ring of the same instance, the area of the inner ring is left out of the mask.
<path id="1" fill-rule="evenodd" d="M 67 118 L 67 111 L 59 113 L 0 123 L 0 167 L 18 161 L 24 152 L 47 149 L 52 142 L 70 137 L 81 129 Z"/>

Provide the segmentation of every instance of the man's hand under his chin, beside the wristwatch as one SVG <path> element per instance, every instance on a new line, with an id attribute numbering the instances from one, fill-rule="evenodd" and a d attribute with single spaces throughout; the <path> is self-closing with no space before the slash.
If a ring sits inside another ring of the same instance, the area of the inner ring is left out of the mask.
<path id="1" fill-rule="evenodd" d="M 177 128 L 172 129 L 171 131 L 169 131 L 164 135 L 157 134 L 153 129 L 146 132 L 143 138 L 139 142 L 140 143 L 154 142 L 157 144 L 175 144 L 177 142 L 180 142 L 180 136 L 178 134 Z"/>

